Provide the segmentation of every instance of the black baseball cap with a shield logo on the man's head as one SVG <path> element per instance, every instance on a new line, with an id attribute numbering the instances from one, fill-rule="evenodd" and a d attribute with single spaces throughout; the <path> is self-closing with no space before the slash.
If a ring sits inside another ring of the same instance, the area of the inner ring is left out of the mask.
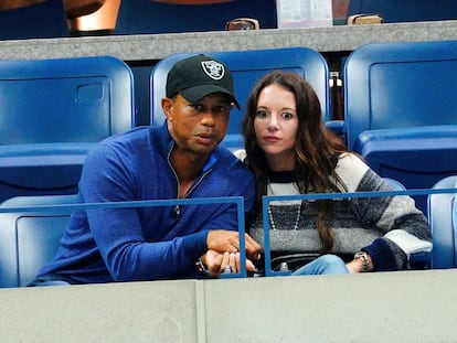
<path id="1" fill-rule="evenodd" d="M 167 76 L 167 97 L 181 94 L 188 101 L 195 103 L 212 93 L 228 95 L 236 107 L 232 72 L 222 63 L 200 54 L 177 62 Z"/>

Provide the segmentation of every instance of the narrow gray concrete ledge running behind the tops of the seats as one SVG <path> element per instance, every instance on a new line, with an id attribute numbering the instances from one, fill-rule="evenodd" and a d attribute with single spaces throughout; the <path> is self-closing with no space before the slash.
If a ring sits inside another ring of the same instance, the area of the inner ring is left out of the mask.
<path id="1" fill-rule="evenodd" d="M 370 42 L 457 40 L 457 20 L 259 31 L 107 35 L 0 41 L 0 58 L 114 55 L 124 61 L 161 60 L 179 52 L 309 46 L 323 53 L 353 51 Z"/>

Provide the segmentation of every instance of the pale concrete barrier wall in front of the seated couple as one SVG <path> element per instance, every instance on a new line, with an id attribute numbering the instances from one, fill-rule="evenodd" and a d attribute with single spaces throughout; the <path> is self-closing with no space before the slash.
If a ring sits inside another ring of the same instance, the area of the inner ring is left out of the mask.
<path id="1" fill-rule="evenodd" d="M 457 342 L 457 270 L 0 290 L 1 342 Z"/>

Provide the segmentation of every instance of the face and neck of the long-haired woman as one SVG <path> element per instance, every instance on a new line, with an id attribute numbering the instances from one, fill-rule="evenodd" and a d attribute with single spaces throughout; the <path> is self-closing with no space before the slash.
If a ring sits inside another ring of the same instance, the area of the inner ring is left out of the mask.
<path id="1" fill-rule="evenodd" d="M 254 130 L 273 171 L 295 168 L 298 117 L 294 93 L 277 84 L 265 87 L 258 96 Z"/>

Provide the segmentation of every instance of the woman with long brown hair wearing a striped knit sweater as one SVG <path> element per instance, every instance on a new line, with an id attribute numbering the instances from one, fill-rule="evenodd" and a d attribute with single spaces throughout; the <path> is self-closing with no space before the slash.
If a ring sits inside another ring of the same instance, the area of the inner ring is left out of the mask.
<path id="1" fill-rule="evenodd" d="M 262 218 L 265 194 L 390 190 L 326 129 L 319 99 L 300 76 L 275 71 L 259 79 L 247 100 L 243 133 L 241 158 L 257 182 L 251 236 L 262 243 L 263 221 L 269 221 L 272 257 L 320 256 L 295 274 L 408 269 L 411 254 L 432 249 L 427 221 L 410 196 L 270 202 L 268 218 Z"/>

